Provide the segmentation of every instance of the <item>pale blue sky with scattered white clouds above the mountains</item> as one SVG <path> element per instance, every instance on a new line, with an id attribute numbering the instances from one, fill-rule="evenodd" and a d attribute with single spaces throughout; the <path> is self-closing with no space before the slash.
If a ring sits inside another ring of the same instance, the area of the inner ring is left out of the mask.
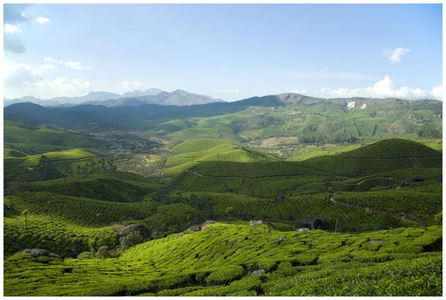
<path id="1" fill-rule="evenodd" d="M 441 4 L 3 6 L 4 97 L 442 100 Z"/>

